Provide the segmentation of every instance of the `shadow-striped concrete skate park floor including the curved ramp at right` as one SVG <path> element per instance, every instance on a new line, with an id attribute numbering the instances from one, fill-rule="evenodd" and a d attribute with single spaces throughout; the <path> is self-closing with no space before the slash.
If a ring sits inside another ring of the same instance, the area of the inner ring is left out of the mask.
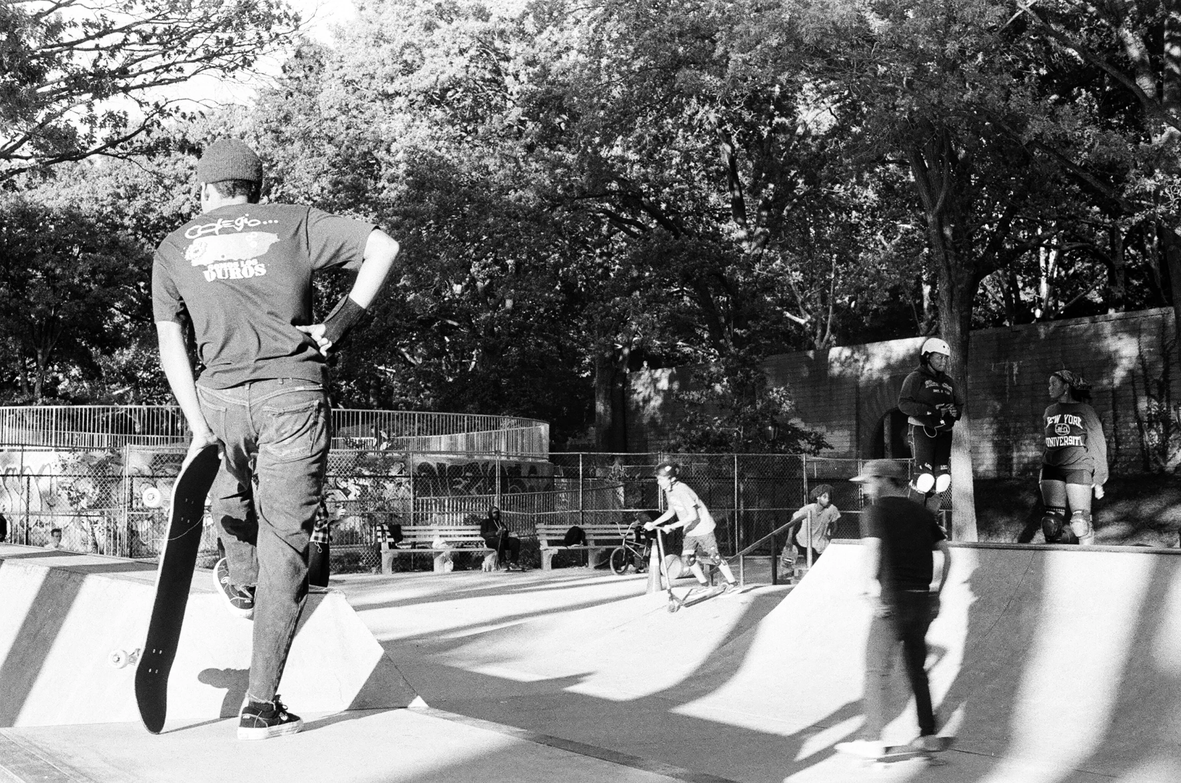
<path id="1" fill-rule="evenodd" d="M 857 547 L 830 553 L 794 589 L 751 563 L 677 613 L 644 575 L 583 568 L 334 578 L 429 707 L 261 743 L 234 719 L 5 727 L 0 781 L 1181 779 L 1181 557 L 957 547 L 928 658 L 957 746 L 877 769 L 833 748 L 862 723 L 868 620 Z M 913 736 L 913 706 L 887 733 Z"/>

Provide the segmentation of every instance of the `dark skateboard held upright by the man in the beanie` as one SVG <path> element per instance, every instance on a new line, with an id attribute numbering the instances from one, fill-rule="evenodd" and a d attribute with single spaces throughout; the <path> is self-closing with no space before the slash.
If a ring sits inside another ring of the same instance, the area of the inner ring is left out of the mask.
<path id="1" fill-rule="evenodd" d="M 217 446 L 202 449 L 181 466 L 181 475 L 172 485 L 168 534 L 156 569 L 156 598 L 148 622 L 148 638 L 136 667 L 139 718 L 154 735 L 164 727 L 168 713 L 168 674 L 176 659 L 193 569 L 197 565 L 205 496 L 220 465 Z"/>

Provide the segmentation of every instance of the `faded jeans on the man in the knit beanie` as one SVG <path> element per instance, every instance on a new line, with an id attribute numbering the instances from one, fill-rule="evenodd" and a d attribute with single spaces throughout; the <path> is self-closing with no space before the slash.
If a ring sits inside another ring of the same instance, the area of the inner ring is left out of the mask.
<path id="1" fill-rule="evenodd" d="M 229 578 L 255 586 L 252 699 L 273 702 L 307 596 L 307 546 L 331 442 L 328 399 L 315 383 L 279 378 L 197 386 L 226 446 L 210 491 Z"/>

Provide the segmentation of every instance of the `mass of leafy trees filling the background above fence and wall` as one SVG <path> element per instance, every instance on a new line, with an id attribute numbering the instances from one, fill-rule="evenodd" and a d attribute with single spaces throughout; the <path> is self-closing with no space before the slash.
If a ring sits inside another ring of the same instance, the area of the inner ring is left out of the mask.
<path id="1" fill-rule="evenodd" d="M 20 63 L 90 30 L 14 7 Z M 213 7 L 185 19 L 214 24 Z M 237 67 L 292 21 L 234 8 L 216 56 L 178 50 L 159 72 Z M 707 364 L 681 443 L 712 429 L 763 448 L 752 432 L 791 424 L 750 374 L 769 354 L 939 332 L 963 380 L 971 328 L 1181 307 L 1179 19 L 1168 2 L 1072 0 L 371 0 L 334 45 L 295 47 L 248 111 L 172 118 L 137 130 L 151 155 L 45 174 L 136 130 L 104 113 L 104 77 L 70 104 L 93 104 L 89 125 L 30 136 L 18 149 L 37 155 L 4 176 L 27 204 L 119 226 L 139 259 L 119 312 L 144 322 L 142 254 L 195 208 L 201 149 L 240 136 L 266 159 L 266 197 L 403 244 L 339 357 L 342 404 L 536 416 L 559 445 L 614 450 L 631 372 Z M 34 93 L 5 87 L 5 116 L 51 129 Z M 318 285 L 331 304 L 347 280 Z M 15 324 L 22 302 L 4 306 Z M 33 342 L 5 345 L 34 366 Z M 106 380 L 86 393 L 163 393 L 142 346 L 90 345 Z M 63 351 L 45 372 L 83 366 Z"/>

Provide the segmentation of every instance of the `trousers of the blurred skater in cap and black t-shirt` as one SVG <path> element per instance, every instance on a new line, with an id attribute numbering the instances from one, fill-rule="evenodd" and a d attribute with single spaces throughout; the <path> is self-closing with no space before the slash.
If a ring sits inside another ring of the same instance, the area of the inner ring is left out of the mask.
<path id="1" fill-rule="evenodd" d="M 889 674 L 894 655 L 902 645 L 902 664 L 911 690 L 914 691 L 915 711 L 919 713 L 919 733 L 935 733 L 935 716 L 931 706 L 931 686 L 927 683 L 927 628 L 931 627 L 932 594 L 927 590 L 899 590 L 882 595 L 885 616 L 874 615 L 866 641 L 866 692 L 862 697 L 866 739 L 881 739 L 887 723 Z"/>

